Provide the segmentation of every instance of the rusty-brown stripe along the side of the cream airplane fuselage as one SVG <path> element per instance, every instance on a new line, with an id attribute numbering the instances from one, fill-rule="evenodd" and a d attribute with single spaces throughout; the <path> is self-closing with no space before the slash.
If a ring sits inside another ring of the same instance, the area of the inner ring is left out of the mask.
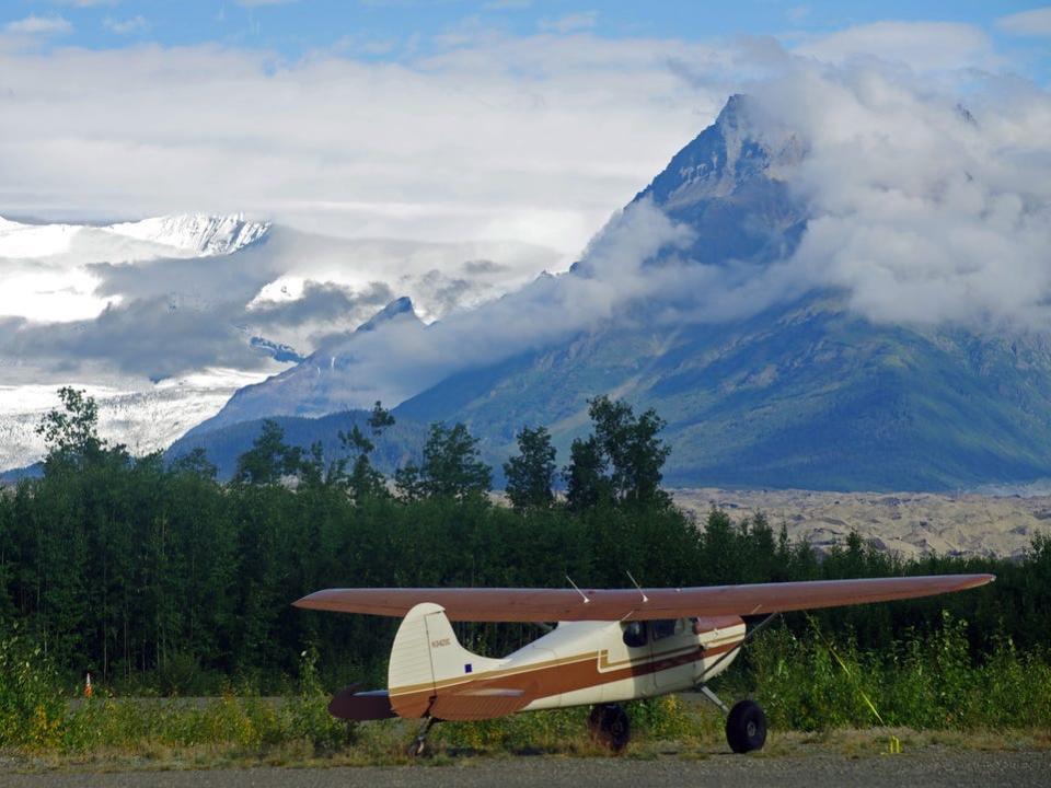
<path id="1" fill-rule="evenodd" d="M 608 684 L 623 679 L 633 679 L 648 675 L 658 671 L 679 668 L 690 662 L 696 662 L 706 657 L 718 657 L 737 648 L 743 638 L 703 648 L 695 646 L 689 649 L 672 649 L 663 653 L 650 656 L 649 659 L 634 661 L 623 668 L 602 671 L 600 663 L 607 652 L 590 652 L 576 654 L 557 660 L 523 665 L 518 669 L 493 671 L 483 676 L 450 679 L 438 682 L 438 694 L 455 694 L 457 687 L 464 691 L 470 687 L 475 692 L 485 687 L 501 690 L 520 690 L 529 696 L 530 702 L 552 695 L 562 695 L 574 690 Z M 621 663 L 616 663 L 621 664 Z M 401 717 L 423 717 L 430 708 L 435 690 L 430 684 L 415 684 L 407 687 L 390 688 L 391 706 Z"/>

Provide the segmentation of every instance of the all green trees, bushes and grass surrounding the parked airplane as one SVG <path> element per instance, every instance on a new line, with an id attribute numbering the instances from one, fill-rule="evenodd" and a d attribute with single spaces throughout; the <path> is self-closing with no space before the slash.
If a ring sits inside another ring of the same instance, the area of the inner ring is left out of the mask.
<path id="1" fill-rule="evenodd" d="M 397 623 L 292 601 L 335 586 L 562 587 L 567 575 L 621 587 L 627 571 L 648 586 L 993 571 L 996 583 L 967 593 L 785 616 L 746 649 L 723 692 L 758 697 L 775 729 L 880 719 L 1051 729 L 1049 540 L 1018 563 L 902 561 L 857 537 L 819 560 L 761 515 L 735 523 L 712 511 L 698 529 L 660 489 L 668 450 L 659 417 L 602 398 L 591 404 L 593 433 L 562 470 L 567 500 L 552 494 L 546 430 L 519 432 L 507 471 L 513 507 L 488 496 L 489 468 L 463 425 L 434 425 L 423 463 L 403 465 L 392 489 L 370 460 L 393 426 L 379 404 L 368 431 L 340 436 L 346 456 L 328 463 L 264 425 L 235 479 L 221 485 L 203 452 L 170 466 L 159 455 L 131 457 L 99 439 L 90 398 L 63 390 L 62 401 L 42 424 L 44 477 L 0 494 L 0 746 L 208 745 L 258 756 L 297 746 L 310 756 L 391 757 L 402 729 L 348 728 L 325 705 L 351 682 L 383 686 Z M 488 653 L 536 637 L 527 625 L 457 627 L 465 646 Z M 70 705 L 88 672 L 97 696 Z M 268 694 L 289 697 L 261 697 Z M 450 748 L 586 752 L 582 715 L 446 726 L 436 735 Z M 701 741 L 720 727 L 674 699 L 632 715 L 643 740 Z"/>

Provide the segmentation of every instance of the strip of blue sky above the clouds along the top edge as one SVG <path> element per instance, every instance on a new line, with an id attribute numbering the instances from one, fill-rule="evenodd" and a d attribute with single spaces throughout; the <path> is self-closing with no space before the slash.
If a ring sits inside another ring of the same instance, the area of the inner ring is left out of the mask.
<path id="1" fill-rule="evenodd" d="M 973 25 L 1010 57 L 1018 70 L 1047 82 L 1044 35 L 1017 35 L 1025 24 L 998 20 L 1039 9 L 1025 0 L 880 3 L 751 0 L 640 3 L 614 0 L 7 0 L 0 26 L 41 33 L 42 46 L 122 48 L 145 42 L 164 46 L 216 43 L 262 48 L 297 59 L 337 50 L 361 59 L 402 60 L 454 46 L 465 36 L 591 33 L 611 39 L 677 38 L 717 42 L 773 35 L 788 46 L 832 31 L 893 20 Z"/>

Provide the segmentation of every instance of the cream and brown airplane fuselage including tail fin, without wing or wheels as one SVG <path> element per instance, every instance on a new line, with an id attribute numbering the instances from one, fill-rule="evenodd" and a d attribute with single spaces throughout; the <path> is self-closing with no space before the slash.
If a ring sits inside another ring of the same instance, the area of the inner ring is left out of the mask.
<path id="1" fill-rule="evenodd" d="M 388 692 L 399 716 L 442 719 L 617 703 L 709 681 L 729 667 L 743 638 L 738 616 L 563 622 L 492 659 L 460 646 L 442 609 L 425 603 L 394 639 Z"/>

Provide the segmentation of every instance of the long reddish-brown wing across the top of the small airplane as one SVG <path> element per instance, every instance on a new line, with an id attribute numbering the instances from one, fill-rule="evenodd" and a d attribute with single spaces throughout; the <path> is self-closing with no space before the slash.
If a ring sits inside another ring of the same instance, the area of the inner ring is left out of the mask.
<path id="1" fill-rule="evenodd" d="M 310 610 L 404 616 L 420 602 L 450 621 L 554 622 L 766 615 L 867 602 L 932 596 L 984 586 L 993 575 L 812 580 L 681 589 L 415 588 L 326 589 L 293 604 Z"/>

